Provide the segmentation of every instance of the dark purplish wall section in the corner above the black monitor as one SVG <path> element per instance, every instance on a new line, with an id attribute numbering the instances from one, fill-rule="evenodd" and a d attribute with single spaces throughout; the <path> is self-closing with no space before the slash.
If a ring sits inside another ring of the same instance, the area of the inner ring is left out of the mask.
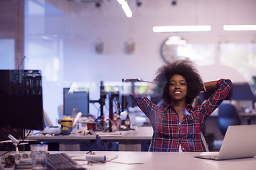
<path id="1" fill-rule="evenodd" d="M 0 1 L 1 69 L 23 68 L 24 1 Z M 14 50 L 13 50 L 14 48 Z M 9 51 L 8 51 L 9 50 Z M 14 55 L 13 55 L 14 54 Z M 8 57 L 11 59 L 8 60 Z M 9 63 L 11 62 L 11 63 Z M 6 67 L 8 66 L 8 67 Z M 10 68 L 11 67 L 11 68 Z"/>

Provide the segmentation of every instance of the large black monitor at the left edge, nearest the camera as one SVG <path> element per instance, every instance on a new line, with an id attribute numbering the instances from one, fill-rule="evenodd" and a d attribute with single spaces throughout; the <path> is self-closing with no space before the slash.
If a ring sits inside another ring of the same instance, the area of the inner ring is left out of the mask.
<path id="1" fill-rule="evenodd" d="M 43 130 L 39 70 L 0 70 L 0 128 Z"/>

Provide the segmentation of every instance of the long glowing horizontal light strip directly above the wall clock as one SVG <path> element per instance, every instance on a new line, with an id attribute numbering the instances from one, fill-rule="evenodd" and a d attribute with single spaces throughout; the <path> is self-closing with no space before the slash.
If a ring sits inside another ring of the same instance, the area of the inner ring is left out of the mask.
<path id="1" fill-rule="evenodd" d="M 210 26 L 154 26 L 153 31 L 155 33 L 210 31 Z"/>

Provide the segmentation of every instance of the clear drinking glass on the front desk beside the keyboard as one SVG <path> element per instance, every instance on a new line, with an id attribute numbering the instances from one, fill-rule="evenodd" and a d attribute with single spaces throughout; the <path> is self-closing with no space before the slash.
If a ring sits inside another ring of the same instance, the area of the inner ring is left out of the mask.
<path id="1" fill-rule="evenodd" d="M 46 156 L 48 151 L 48 145 L 46 144 L 33 144 L 31 148 L 32 168 L 36 170 L 47 169 Z"/>

